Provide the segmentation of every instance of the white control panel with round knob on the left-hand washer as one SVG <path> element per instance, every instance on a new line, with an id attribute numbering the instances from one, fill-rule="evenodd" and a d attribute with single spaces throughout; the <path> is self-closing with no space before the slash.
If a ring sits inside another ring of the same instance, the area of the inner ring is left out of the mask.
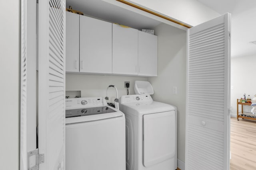
<path id="1" fill-rule="evenodd" d="M 65 101 L 66 109 L 78 109 L 86 107 L 106 106 L 107 102 L 102 97 L 91 98 L 68 98 Z"/>

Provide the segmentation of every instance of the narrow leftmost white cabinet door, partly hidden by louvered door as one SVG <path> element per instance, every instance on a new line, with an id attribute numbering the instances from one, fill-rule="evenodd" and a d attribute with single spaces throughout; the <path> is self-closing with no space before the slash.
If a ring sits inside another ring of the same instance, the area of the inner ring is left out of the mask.
<path id="1" fill-rule="evenodd" d="M 79 15 L 67 11 L 66 71 L 79 72 Z"/>

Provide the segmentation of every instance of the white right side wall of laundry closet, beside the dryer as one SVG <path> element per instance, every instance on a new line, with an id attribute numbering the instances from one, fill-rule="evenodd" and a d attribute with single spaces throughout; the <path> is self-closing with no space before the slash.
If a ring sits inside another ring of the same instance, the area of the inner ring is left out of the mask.
<path id="1" fill-rule="evenodd" d="M 158 35 L 158 77 L 148 78 L 154 100 L 178 108 L 178 159 L 185 162 L 186 115 L 186 31 L 164 23 L 155 28 Z M 172 94 L 172 87 L 177 94 Z"/>

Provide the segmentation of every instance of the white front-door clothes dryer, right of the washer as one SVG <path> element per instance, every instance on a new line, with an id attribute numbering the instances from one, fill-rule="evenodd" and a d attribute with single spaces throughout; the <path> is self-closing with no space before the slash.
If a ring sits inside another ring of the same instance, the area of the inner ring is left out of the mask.
<path id="1" fill-rule="evenodd" d="M 120 110 L 126 117 L 126 170 L 176 170 L 176 107 L 150 95 L 127 95 Z"/>

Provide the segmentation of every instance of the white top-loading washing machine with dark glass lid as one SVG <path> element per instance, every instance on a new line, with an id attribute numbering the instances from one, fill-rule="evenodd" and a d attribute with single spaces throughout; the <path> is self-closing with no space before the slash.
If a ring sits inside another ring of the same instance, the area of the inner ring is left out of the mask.
<path id="1" fill-rule="evenodd" d="M 101 97 L 66 99 L 66 170 L 126 170 L 124 113 Z"/>

